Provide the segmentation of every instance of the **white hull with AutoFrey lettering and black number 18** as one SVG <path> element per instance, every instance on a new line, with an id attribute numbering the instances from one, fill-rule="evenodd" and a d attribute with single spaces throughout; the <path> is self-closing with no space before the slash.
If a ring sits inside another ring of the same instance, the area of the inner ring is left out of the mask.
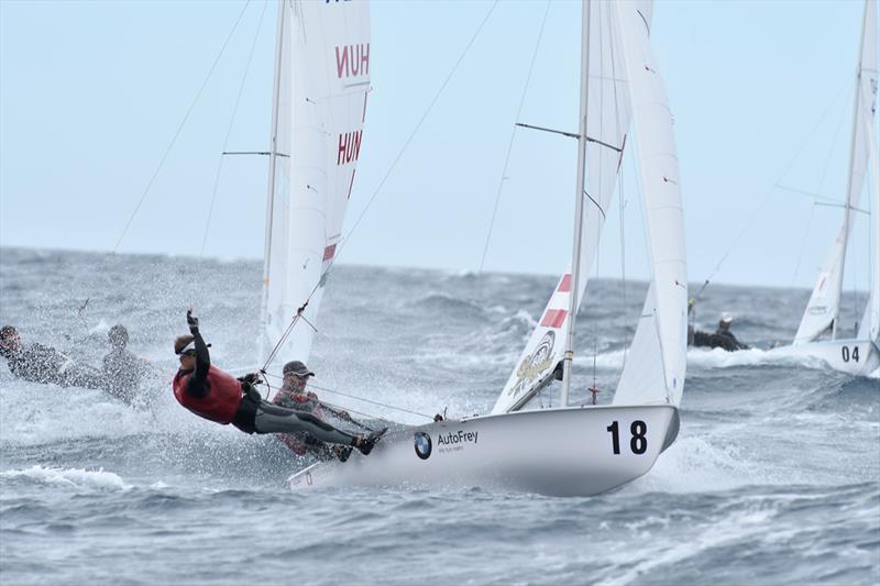
<path id="1" fill-rule="evenodd" d="M 647 473 L 678 428 L 672 406 L 544 409 L 442 421 L 389 433 L 370 456 L 354 453 L 345 463 L 315 464 L 288 484 L 294 490 L 480 486 L 590 496 Z"/>

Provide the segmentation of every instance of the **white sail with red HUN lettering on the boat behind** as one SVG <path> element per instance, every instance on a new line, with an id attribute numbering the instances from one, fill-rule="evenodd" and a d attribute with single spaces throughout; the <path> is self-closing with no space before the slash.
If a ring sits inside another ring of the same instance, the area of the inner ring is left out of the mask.
<path id="1" fill-rule="evenodd" d="M 274 364 L 306 361 L 323 280 L 363 148 L 370 91 L 366 1 L 283 0 L 276 78 L 277 156 L 270 187 L 261 362 L 307 301 Z"/>

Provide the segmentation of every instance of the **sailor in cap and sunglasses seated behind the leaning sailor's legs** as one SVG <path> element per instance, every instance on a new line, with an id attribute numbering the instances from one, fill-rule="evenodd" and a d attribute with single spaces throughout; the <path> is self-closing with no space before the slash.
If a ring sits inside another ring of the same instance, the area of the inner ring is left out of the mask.
<path id="1" fill-rule="evenodd" d="M 351 421 L 351 416 L 346 411 L 338 411 L 318 400 L 315 392 L 306 392 L 306 384 L 315 373 L 299 361 L 292 361 L 284 365 L 284 386 L 272 400 L 274 405 L 286 407 L 295 411 L 310 413 L 318 419 L 323 419 L 324 412 L 338 417 L 343 421 Z M 284 433 L 278 439 L 287 445 L 295 454 L 306 455 L 310 453 L 318 460 L 339 458 L 345 462 L 351 454 L 351 447 L 344 445 L 330 446 L 316 439 L 310 433 Z"/>

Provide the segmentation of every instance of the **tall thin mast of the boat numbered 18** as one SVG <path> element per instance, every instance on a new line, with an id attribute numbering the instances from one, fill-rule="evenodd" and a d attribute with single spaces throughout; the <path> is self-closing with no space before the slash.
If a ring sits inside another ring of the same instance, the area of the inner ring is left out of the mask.
<path id="1" fill-rule="evenodd" d="M 562 407 L 569 405 L 571 388 L 571 366 L 574 360 L 574 318 L 578 313 L 578 281 L 581 273 L 581 241 L 583 240 L 584 167 L 586 166 L 586 99 L 590 79 L 590 9 L 592 0 L 581 4 L 581 108 L 578 114 L 578 177 L 574 192 L 574 242 L 571 254 L 572 289 L 569 296 L 568 331 L 565 332 L 565 354 L 562 362 Z"/>

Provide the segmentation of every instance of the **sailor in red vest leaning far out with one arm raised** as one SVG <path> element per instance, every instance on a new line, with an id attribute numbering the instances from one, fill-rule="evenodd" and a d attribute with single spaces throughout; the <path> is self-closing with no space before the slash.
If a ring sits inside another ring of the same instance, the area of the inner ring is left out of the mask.
<path id="1" fill-rule="evenodd" d="M 256 374 L 234 378 L 211 365 L 208 346 L 199 333 L 199 320 L 191 310 L 187 311 L 186 320 L 191 335 L 178 336 L 174 342 L 180 369 L 173 386 L 180 405 L 210 421 L 232 423 L 245 433 L 307 432 L 322 442 L 356 447 L 362 454 L 373 450 L 381 434 L 352 435 L 310 413 L 272 405 L 253 388 Z"/>

